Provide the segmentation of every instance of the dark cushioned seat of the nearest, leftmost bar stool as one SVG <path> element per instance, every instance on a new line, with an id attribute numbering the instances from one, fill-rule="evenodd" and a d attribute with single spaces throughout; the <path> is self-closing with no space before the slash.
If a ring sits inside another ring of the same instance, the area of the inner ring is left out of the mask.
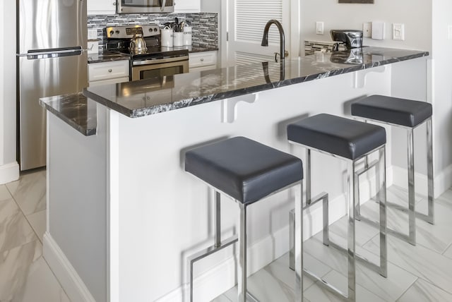
<path id="1" fill-rule="evenodd" d="M 185 171 L 246 205 L 303 179 L 297 157 L 243 137 L 187 152 Z"/>

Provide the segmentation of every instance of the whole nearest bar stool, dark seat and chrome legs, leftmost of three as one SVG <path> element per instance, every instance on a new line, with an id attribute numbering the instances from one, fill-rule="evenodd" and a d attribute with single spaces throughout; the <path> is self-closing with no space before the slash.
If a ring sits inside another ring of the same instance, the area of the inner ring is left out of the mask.
<path id="1" fill-rule="evenodd" d="M 239 243 L 237 261 L 238 301 L 245 302 L 246 296 L 256 301 L 246 291 L 246 210 L 269 195 L 295 188 L 295 221 L 297 231 L 295 294 L 302 302 L 302 179 L 301 159 L 272 147 L 262 145 L 248 138 L 236 137 L 189 150 L 185 154 L 185 171 L 213 189 L 215 192 L 215 242 L 213 246 L 192 255 L 189 262 L 188 298 L 193 301 L 194 262 L 215 253 L 225 246 Z M 232 236 L 221 240 L 220 193 L 230 197 L 239 205 L 238 238 Z"/>

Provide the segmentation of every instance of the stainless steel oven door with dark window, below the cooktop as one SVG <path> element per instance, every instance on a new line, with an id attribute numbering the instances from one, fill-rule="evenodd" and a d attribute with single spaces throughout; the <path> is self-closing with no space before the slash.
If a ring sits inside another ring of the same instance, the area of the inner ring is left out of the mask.
<path id="1" fill-rule="evenodd" d="M 143 80 L 179 73 L 189 72 L 189 60 L 174 61 L 172 59 L 147 60 L 132 62 L 131 80 Z"/>

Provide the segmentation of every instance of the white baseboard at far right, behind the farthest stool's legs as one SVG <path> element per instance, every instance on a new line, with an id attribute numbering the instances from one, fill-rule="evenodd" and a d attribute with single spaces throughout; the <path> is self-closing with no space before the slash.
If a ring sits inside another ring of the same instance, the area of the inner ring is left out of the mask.
<path id="1" fill-rule="evenodd" d="M 407 169 L 393 166 L 393 184 L 408 189 Z M 436 173 L 434 178 L 434 198 L 438 198 L 452 186 L 452 164 Z M 427 196 L 427 175 L 415 172 L 415 192 Z"/>

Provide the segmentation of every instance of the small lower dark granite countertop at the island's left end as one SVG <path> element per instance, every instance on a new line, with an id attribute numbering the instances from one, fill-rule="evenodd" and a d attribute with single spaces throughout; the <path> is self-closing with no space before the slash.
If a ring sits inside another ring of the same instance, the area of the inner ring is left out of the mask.
<path id="1" fill-rule="evenodd" d="M 97 133 L 96 102 L 81 92 L 73 95 L 43 97 L 40 104 L 85 136 Z"/>

